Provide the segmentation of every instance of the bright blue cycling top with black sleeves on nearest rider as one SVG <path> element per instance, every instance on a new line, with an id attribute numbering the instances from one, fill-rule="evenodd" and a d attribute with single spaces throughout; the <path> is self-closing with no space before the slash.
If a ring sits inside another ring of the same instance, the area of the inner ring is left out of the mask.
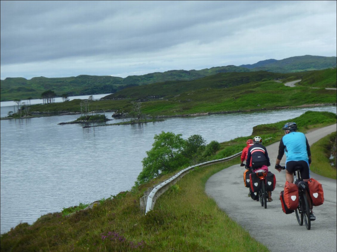
<path id="1" fill-rule="evenodd" d="M 278 160 L 282 159 L 284 152 L 287 157 L 286 162 L 300 160 L 308 162 L 311 156 L 308 139 L 303 133 L 296 131 L 290 132 L 282 137 L 278 148 Z"/>

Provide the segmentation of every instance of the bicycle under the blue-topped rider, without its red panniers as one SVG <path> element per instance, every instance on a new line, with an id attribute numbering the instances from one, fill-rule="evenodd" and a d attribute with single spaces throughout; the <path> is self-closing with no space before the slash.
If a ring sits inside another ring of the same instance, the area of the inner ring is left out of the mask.
<path id="1" fill-rule="evenodd" d="M 297 209 L 295 210 L 296 219 L 300 226 L 303 226 L 303 221 L 305 223 L 305 227 L 310 230 L 311 228 L 311 220 L 310 220 L 310 204 L 307 198 L 308 193 L 308 183 L 305 182 L 301 177 L 302 166 L 296 166 L 294 171 L 294 181 L 299 190 L 299 204 Z M 280 170 L 285 170 L 285 166 L 282 166 Z"/>

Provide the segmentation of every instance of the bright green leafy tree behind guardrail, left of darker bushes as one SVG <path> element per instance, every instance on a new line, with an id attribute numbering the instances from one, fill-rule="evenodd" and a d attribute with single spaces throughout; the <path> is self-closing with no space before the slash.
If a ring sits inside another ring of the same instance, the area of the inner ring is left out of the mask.
<path id="1" fill-rule="evenodd" d="M 136 183 L 145 183 L 161 173 L 172 172 L 189 164 L 189 159 L 183 155 L 186 140 L 181 136 L 163 131 L 154 136 L 152 149 L 146 152 L 147 157 L 142 161 L 143 170 L 138 175 Z"/>

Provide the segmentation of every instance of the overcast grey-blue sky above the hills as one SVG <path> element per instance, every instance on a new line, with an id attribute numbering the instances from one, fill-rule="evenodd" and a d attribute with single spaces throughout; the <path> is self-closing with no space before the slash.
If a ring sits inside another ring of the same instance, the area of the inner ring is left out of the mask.
<path id="1" fill-rule="evenodd" d="M 0 78 L 124 78 L 336 56 L 336 3 L 1 0 Z"/>

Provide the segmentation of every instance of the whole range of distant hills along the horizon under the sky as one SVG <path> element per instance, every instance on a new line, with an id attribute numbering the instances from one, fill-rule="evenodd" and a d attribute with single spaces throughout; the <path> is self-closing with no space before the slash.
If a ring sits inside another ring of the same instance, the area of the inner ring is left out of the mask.
<path id="1" fill-rule="evenodd" d="M 311 70 L 336 68 L 336 57 L 324 56 L 296 56 L 282 60 L 267 59 L 252 65 L 212 67 L 202 70 L 171 70 L 145 75 L 133 75 L 126 78 L 114 76 L 79 75 L 76 77 L 45 78 L 35 77 L 6 78 L 0 81 L 0 100 L 14 100 L 40 98 L 46 90 L 54 91 L 58 96 L 62 94 L 92 95 L 115 93 L 127 87 L 148 85 L 167 81 L 191 81 L 219 73 L 257 72 L 294 73 Z"/>

